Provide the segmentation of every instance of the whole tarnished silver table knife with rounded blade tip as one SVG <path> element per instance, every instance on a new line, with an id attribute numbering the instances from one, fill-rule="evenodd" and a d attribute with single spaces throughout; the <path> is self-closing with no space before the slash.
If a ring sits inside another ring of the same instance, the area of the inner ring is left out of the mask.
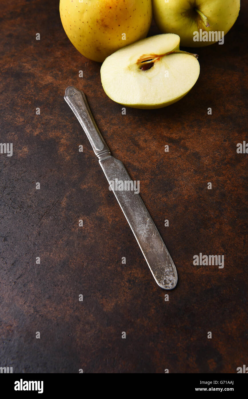
<path id="1" fill-rule="evenodd" d="M 126 190 L 114 189 L 113 182 L 131 182 L 125 166 L 110 154 L 93 119 L 84 93 L 74 86 L 69 86 L 64 99 L 85 131 L 155 281 L 161 288 L 171 290 L 177 283 L 176 267 L 145 204 L 137 192 L 128 190 L 127 185 L 125 186 Z M 122 187 L 120 186 L 120 188 Z"/>

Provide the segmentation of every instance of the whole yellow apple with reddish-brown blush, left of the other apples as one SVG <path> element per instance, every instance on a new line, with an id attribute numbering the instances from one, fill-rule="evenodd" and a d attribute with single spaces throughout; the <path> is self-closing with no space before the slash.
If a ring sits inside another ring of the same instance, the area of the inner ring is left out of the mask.
<path id="1" fill-rule="evenodd" d="M 64 30 L 85 57 L 103 62 L 134 41 L 146 37 L 151 0 L 60 0 Z"/>

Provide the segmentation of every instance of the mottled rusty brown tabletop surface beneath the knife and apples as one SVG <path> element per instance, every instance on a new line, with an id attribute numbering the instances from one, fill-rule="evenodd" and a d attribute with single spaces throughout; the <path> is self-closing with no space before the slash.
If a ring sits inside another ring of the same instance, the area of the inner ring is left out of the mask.
<path id="1" fill-rule="evenodd" d="M 236 373 L 248 364 L 248 155 L 236 153 L 248 141 L 247 1 L 224 45 L 198 49 L 200 77 L 184 99 L 126 115 L 105 95 L 101 65 L 66 37 L 58 3 L 1 2 L 0 141 L 13 143 L 13 156 L 0 155 L 0 366 Z M 157 33 L 153 24 L 148 36 Z M 140 180 L 177 267 L 174 290 L 155 283 L 63 99 L 68 85 L 85 91 L 112 155 Z M 225 255 L 224 269 L 193 266 L 200 252 Z"/>

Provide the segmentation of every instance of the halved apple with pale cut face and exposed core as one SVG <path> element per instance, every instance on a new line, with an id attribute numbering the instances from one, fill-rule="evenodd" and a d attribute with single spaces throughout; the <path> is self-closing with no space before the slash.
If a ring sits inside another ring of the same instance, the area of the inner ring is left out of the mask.
<path id="1" fill-rule="evenodd" d="M 184 97 L 196 83 L 196 54 L 179 49 L 180 37 L 162 34 L 116 51 L 101 67 L 105 93 L 133 108 L 166 107 Z"/>

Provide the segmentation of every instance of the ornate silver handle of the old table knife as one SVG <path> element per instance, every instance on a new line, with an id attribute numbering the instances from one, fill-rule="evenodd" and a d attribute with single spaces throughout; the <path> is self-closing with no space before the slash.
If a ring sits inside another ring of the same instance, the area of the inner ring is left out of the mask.
<path id="1" fill-rule="evenodd" d="M 108 158 L 111 155 L 109 148 L 97 128 L 85 94 L 74 86 L 68 86 L 64 99 L 79 120 L 99 161 Z"/>

